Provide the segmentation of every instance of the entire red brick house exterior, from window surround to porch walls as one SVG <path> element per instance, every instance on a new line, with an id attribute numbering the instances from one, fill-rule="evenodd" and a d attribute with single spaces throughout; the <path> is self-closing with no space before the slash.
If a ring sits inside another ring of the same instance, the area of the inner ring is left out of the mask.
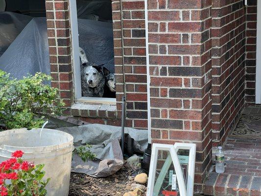
<path id="1" fill-rule="evenodd" d="M 148 63 L 152 140 L 197 145 L 194 190 L 202 193 L 212 138 L 224 142 L 245 89 L 253 103 L 256 2 L 246 13 L 242 0 L 148 0 L 146 62 L 144 1 L 113 0 L 117 104 L 98 105 L 74 104 L 68 1 L 46 0 L 52 86 L 68 115 L 90 123 L 120 125 L 125 95 L 126 125 L 146 128 Z"/>

